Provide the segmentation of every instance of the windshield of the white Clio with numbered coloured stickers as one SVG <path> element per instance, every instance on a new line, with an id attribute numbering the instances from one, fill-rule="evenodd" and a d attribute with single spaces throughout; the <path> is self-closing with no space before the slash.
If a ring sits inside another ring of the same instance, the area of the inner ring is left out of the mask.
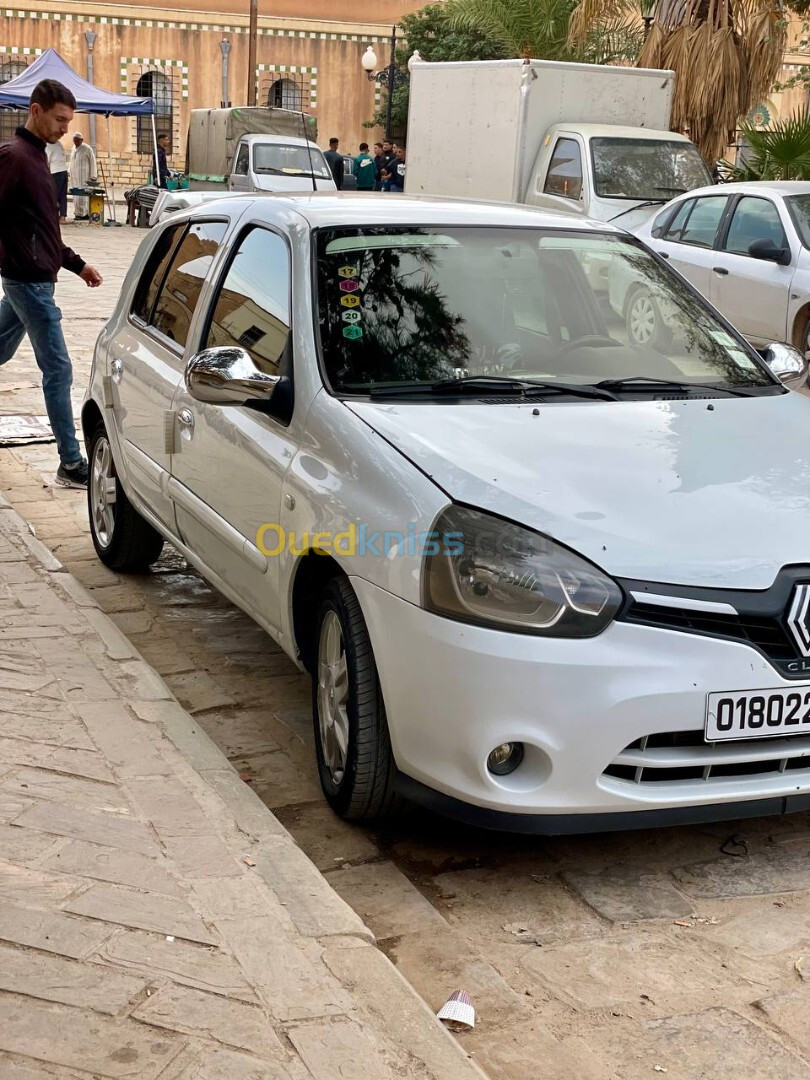
<path id="1" fill-rule="evenodd" d="M 774 381 L 632 238 L 483 226 L 316 237 L 321 348 L 338 392 L 469 376 Z"/>

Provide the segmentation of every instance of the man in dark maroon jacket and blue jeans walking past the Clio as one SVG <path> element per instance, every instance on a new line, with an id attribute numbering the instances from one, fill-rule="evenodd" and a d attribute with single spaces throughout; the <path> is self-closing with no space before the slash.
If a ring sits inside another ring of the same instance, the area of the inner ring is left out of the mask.
<path id="1" fill-rule="evenodd" d="M 28 119 L 0 146 L 0 364 L 5 364 L 28 335 L 42 372 L 42 392 L 51 421 L 59 468 L 56 482 L 86 487 L 87 462 L 76 438 L 70 384 L 73 370 L 62 312 L 54 302 L 56 275 L 64 267 L 95 288 L 102 275 L 66 247 L 45 147 L 67 133 L 76 98 L 60 82 L 44 79 L 31 94 Z"/>

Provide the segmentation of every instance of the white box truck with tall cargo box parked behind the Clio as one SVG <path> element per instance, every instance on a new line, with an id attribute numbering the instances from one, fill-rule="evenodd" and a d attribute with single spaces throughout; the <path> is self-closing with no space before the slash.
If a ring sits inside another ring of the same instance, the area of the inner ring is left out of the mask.
<path id="1" fill-rule="evenodd" d="M 567 211 L 623 228 L 712 183 L 669 131 L 674 71 L 475 60 L 414 65 L 408 194 Z"/>

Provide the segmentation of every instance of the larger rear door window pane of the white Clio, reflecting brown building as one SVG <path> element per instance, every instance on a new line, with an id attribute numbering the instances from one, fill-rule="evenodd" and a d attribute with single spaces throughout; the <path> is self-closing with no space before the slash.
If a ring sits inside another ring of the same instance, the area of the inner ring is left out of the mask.
<path id="1" fill-rule="evenodd" d="M 179 346 L 186 345 L 200 291 L 227 228 L 227 221 L 195 222 L 172 259 L 151 324 Z"/>

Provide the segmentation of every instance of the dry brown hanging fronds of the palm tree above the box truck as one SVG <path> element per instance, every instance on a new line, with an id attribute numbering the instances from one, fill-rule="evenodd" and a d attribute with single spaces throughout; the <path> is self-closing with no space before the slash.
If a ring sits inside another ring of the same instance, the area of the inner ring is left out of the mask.
<path id="1" fill-rule="evenodd" d="M 531 0 L 512 0 L 530 6 Z M 781 0 L 640 0 L 649 29 L 642 67 L 671 68 L 677 79 L 671 126 L 687 131 L 710 164 L 733 141 L 740 117 L 770 91 L 786 41 Z M 579 0 L 569 42 L 606 24 L 638 25 L 639 0 Z"/>

